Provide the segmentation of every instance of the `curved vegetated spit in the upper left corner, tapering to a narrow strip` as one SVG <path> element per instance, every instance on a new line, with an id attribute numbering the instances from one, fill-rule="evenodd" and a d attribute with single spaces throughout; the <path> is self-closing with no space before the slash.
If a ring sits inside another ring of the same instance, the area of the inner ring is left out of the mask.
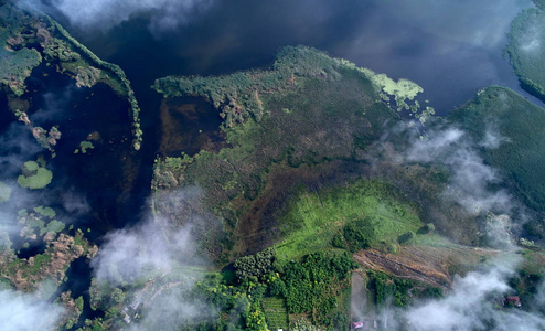
<path id="1" fill-rule="evenodd" d="M 40 65 L 54 66 L 74 78 L 77 87 L 104 83 L 126 98 L 132 122 L 132 146 L 140 149 L 140 108 L 130 82 L 118 65 L 100 60 L 52 18 L 25 12 L 10 1 L 0 4 L 0 86 L 7 87 L 10 108 L 20 120 L 32 126 L 25 114 L 26 78 Z M 45 140 L 46 137 L 42 141 L 47 145 Z M 47 147 L 51 145 L 54 143 Z"/>

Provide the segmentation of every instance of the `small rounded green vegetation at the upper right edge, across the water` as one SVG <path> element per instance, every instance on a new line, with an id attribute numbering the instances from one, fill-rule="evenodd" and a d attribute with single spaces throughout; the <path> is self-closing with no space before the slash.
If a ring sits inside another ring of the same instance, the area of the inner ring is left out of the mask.
<path id="1" fill-rule="evenodd" d="M 545 102 L 545 11 L 526 9 L 511 23 L 509 54 L 522 88 Z"/>

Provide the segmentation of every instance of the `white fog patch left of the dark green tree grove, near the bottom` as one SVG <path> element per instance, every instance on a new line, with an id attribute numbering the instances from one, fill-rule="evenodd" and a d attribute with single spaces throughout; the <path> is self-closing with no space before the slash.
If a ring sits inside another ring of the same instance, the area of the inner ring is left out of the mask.
<path id="1" fill-rule="evenodd" d="M 199 201 L 192 199 L 195 192 L 200 190 L 179 190 L 170 200 L 185 199 L 180 203 L 197 207 Z M 188 217 L 183 225 L 173 225 L 162 216 L 149 216 L 133 227 L 114 231 L 105 236 L 92 261 L 99 284 L 125 288 L 127 317 L 141 312 L 139 320 L 129 324 L 130 330 L 175 330 L 217 318 L 215 307 L 195 299 L 195 282 L 204 279 L 209 263 L 193 227 L 206 225 L 199 224 L 199 216 Z"/>

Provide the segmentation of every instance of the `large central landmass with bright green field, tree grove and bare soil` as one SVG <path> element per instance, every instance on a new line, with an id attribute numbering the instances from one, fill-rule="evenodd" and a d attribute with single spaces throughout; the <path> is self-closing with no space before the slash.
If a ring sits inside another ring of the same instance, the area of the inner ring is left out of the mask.
<path id="1" fill-rule="evenodd" d="M 520 232 L 502 227 L 510 222 L 502 209 L 484 201 L 468 210 L 457 183 L 468 174 L 457 171 L 459 163 L 426 150 L 427 141 L 451 134 L 441 131 L 446 126 L 462 127 L 473 142 L 439 148 L 498 164 L 515 192 L 539 199 L 539 184 L 524 173 L 543 139 L 535 137 L 539 142 L 526 154 L 524 132 L 532 127 L 522 114 L 541 119 L 544 110 L 505 88 L 481 92 L 448 119 L 428 121 L 420 136 L 396 110 L 418 111 L 421 87 L 304 46 L 282 49 L 270 71 L 172 76 L 153 87 L 167 98 L 203 97 L 223 118 L 225 141 L 156 160 L 158 224 L 171 234 L 188 226 L 216 266 L 231 266 L 209 271 L 193 292 L 220 314 L 184 325 L 343 330 L 359 318 L 354 307 L 373 317 L 387 305 L 441 297 L 455 275 L 519 241 Z M 498 127 L 487 131 L 492 124 Z M 503 138 L 483 136 L 498 128 Z M 489 185 L 484 180 L 479 189 L 488 194 Z M 539 238 L 537 229 L 532 238 Z M 520 243 L 528 250 L 516 273 L 533 276 L 512 286 L 531 300 L 542 255 L 532 241 Z M 365 302 L 351 302 L 357 288 L 365 288 Z"/>

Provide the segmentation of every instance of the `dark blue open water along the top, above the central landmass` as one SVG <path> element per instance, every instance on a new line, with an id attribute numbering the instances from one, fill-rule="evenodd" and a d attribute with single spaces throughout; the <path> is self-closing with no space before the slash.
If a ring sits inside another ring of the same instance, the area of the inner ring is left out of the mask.
<path id="1" fill-rule="evenodd" d="M 151 14 L 107 32 L 83 31 L 77 22 L 68 30 L 121 65 L 146 106 L 145 117 L 158 109 L 148 89 L 156 78 L 266 68 L 279 47 L 296 44 L 415 81 L 438 113 L 447 114 L 489 85 L 521 92 L 503 47 L 511 20 L 530 6 L 528 0 L 217 0 L 175 30 L 150 29 Z"/>

